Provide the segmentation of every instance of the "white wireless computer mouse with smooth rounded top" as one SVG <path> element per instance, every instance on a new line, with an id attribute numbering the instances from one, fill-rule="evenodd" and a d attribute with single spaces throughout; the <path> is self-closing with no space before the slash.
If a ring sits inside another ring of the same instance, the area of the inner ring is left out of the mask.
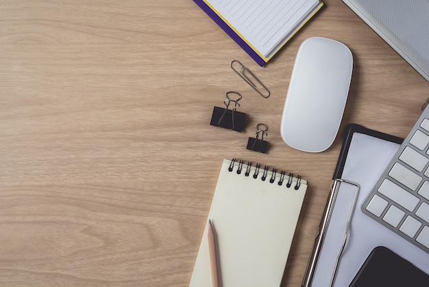
<path id="1" fill-rule="evenodd" d="M 299 46 L 280 126 L 287 145 L 305 152 L 322 152 L 332 145 L 352 69 L 352 52 L 343 43 L 314 37 Z"/>

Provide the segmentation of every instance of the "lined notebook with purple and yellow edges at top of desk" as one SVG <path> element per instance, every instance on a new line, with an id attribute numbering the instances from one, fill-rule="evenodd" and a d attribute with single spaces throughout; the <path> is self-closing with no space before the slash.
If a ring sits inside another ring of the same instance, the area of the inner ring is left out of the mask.
<path id="1" fill-rule="evenodd" d="M 194 0 L 259 65 L 323 6 L 320 0 Z"/>

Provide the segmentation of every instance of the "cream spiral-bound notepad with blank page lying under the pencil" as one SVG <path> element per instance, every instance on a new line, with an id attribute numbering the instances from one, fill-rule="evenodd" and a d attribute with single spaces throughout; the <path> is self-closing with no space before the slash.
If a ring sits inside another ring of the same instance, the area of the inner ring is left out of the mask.
<path id="1" fill-rule="evenodd" d="M 306 190 L 301 176 L 223 160 L 208 213 L 217 233 L 221 286 L 280 286 Z M 211 286 L 207 232 L 208 225 L 191 287 Z"/>

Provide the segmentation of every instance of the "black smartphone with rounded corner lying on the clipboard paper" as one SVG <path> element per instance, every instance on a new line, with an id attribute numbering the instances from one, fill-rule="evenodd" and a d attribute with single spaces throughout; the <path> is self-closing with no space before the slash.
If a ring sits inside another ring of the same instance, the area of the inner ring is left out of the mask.
<path id="1" fill-rule="evenodd" d="M 390 249 L 378 246 L 360 267 L 350 287 L 384 286 L 428 287 L 429 275 Z"/>

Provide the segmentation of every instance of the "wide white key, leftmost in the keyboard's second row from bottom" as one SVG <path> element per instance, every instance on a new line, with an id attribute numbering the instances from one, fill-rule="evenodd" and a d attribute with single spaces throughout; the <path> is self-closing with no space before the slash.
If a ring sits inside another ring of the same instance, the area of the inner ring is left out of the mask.
<path id="1" fill-rule="evenodd" d="M 378 192 L 384 194 L 384 196 L 387 196 L 409 211 L 413 211 L 419 203 L 419 198 L 417 196 L 410 194 L 410 192 L 407 192 L 399 185 L 389 181 L 389 179 L 384 179 L 380 187 L 378 187 Z"/>

